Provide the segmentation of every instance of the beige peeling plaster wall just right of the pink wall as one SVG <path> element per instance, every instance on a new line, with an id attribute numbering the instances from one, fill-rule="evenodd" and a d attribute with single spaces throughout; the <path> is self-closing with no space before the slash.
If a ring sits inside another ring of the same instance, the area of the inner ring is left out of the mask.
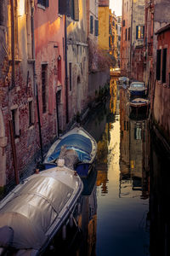
<path id="1" fill-rule="evenodd" d="M 67 67 L 69 119 L 88 106 L 88 44 L 86 1 L 79 1 L 79 20 L 67 18 Z M 71 88 L 70 70 L 71 63 Z"/>

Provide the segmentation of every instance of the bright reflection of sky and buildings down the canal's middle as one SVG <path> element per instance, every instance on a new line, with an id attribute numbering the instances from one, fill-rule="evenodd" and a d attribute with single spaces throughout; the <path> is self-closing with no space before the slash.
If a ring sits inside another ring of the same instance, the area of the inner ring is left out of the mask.
<path id="1" fill-rule="evenodd" d="M 130 119 L 127 90 L 117 88 L 115 79 L 110 93 L 105 131 L 98 142 L 96 253 L 149 255 L 148 120 Z"/>

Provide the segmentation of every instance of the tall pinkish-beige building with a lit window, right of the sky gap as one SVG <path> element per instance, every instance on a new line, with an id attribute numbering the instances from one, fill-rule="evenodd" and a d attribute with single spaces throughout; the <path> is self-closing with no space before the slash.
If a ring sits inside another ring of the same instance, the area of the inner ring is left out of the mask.
<path id="1" fill-rule="evenodd" d="M 144 0 L 122 1 L 122 73 L 143 81 Z"/>

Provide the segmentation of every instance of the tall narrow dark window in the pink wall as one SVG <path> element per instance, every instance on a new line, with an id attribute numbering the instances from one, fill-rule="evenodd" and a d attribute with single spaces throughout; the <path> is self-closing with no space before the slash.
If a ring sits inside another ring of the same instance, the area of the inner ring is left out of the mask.
<path id="1" fill-rule="evenodd" d="M 47 111 L 48 64 L 42 64 L 42 113 Z"/>

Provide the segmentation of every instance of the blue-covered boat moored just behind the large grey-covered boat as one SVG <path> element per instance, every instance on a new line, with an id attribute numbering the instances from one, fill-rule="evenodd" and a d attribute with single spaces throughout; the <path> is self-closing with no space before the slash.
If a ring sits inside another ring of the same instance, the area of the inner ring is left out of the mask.
<path id="1" fill-rule="evenodd" d="M 49 148 L 43 165 L 48 169 L 50 164 L 57 165 L 59 159 L 65 159 L 65 165 L 76 170 L 80 177 L 88 177 L 96 154 L 97 143 L 94 137 L 81 126 L 76 126 Z"/>

